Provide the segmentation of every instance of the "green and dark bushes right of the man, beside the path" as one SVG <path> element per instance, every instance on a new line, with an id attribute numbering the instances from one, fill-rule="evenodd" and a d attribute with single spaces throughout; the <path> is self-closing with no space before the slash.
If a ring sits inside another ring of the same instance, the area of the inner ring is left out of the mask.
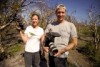
<path id="1" fill-rule="evenodd" d="M 98 33 L 100 35 L 100 30 L 98 27 Z M 98 43 L 98 49 L 95 48 L 95 42 L 93 38 L 94 32 L 91 30 L 91 26 L 81 26 L 80 29 L 78 29 L 79 37 L 83 37 L 83 39 L 79 40 L 79 44 L 81 47 L 77 48 L 77 50 L 86 55 L 89 59 L 89 61 L 93 64 L 94 67 L 100 66 L 100 42 Z M 88 37 L 88 38 L 87 38 Z"/>

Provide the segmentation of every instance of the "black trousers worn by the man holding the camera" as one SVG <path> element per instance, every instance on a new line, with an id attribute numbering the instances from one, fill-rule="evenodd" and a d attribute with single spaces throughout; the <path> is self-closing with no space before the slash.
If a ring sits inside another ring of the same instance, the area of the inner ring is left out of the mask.
<path id="1" fill-rule="evenodd" d="M 58 58 L 49 55 L 49 67 L 68 67 L 67 58 Z"/>

